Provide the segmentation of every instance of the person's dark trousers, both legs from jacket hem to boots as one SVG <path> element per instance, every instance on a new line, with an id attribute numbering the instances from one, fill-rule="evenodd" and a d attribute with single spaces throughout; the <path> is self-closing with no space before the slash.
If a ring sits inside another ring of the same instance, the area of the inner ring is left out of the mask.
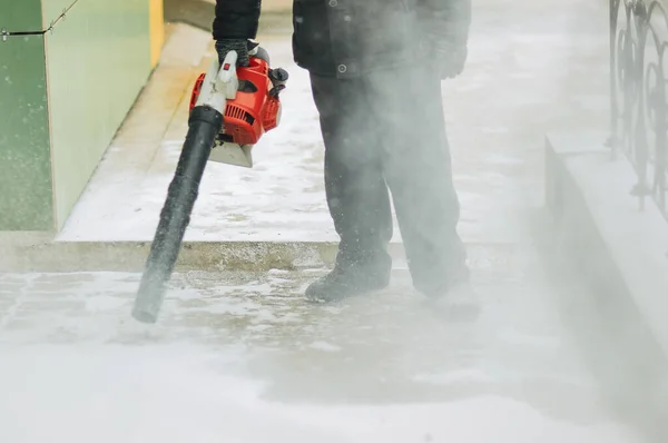
<path id="1" fill-rule="evenodd" d="M 439 292 L 468 278 L 439 77 L 406 67 L 346 80 L 312 75 L 311 83 L 338 264 L 387 254 L 390 189 L 415 287 Z"/>

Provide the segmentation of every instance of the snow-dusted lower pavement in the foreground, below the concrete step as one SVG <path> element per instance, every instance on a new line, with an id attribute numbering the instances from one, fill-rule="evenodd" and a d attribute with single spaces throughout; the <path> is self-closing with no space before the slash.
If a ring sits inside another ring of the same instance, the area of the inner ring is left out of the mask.
<path id="1" fill-rule="evenodd" d="M 129 316 L 136 274 L 1 275 L 0 441 L 640 442 L 539 257 L 479 247 L 472 262 L 468 322 L 400 270 L 333 305 L 302 297 L 322 269 L 177 275 L 156 326 Z"/>

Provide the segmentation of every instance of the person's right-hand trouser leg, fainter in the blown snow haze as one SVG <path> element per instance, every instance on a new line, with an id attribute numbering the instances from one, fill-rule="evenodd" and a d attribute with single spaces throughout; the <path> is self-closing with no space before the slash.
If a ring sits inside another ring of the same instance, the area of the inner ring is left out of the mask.
<path id="1" fill-rule="evenodd" d="M 415 287 L 444 295 L 469 278 L 456 230 L 460 206 L 452 181 L 441 82 L 426 69 L 383 70 L 369 80 L 383 128 L 385 179 L 392 190 Z"/>

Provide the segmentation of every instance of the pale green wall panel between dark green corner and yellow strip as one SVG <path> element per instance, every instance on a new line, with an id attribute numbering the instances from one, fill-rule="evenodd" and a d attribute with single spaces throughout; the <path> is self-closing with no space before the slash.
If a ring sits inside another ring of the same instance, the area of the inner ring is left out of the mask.
<path id="1" fill-rule="evenodd" d="M 46 24 L 69 4 L 45 1 Z M 148 23 L 148 1 L 79 0 L 46 37 L 58 228 L 150 75 Z"/>

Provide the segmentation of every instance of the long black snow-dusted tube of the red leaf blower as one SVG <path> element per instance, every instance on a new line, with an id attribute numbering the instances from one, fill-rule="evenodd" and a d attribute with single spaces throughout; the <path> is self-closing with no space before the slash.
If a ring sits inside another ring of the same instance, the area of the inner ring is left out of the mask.
<path id="1" fill-rule="evenodd" d="M 167 199 L 135 299 L 132 317 L 141 323 L 158 321 L 166 284 L 171 277 L 197 200 L 204 169 L 222 128 L 223 115 L 216 109 L 205 106 L 193 108 L 188 119 L 188 135 L 167 190 Z"/>

